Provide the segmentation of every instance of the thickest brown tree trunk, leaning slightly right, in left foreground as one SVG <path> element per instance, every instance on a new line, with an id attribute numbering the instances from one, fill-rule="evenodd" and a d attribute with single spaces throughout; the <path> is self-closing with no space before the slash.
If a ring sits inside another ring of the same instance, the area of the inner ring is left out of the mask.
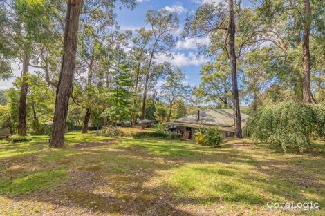
<path id="1" fill-rule="evenodd" d="M 53 117 L 52 138 L 50 146 L 61 148 L 64 146 L 64 130 L 66 128 L 66 115 L 68 115 L 68 101 L 73 87 L 73 75 L 75 72 L 75 55 L 77 51 L 77 37 L 79 15 L 82 0 L 68 0 L 66 12 L 66 26 L 64 29 L 64 56 L 62 68 L 57 85 L 57 97 Z"/>

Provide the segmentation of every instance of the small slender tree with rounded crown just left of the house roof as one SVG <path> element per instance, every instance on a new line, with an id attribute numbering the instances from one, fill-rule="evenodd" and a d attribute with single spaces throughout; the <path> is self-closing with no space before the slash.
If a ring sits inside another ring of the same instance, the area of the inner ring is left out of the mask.
<path id="1" fill-rule="evenodd" d="M 175 68 L 166 78 L 165 82 L 161 86 L 161 95 L 169 106 L 169 113 L 167 121 L 171 119 L 171 110 L 178 99 L 187 97 L 187 93 L 190 91 L 190 86 L 184 84 L 185 73 L 180 68 Z"/>

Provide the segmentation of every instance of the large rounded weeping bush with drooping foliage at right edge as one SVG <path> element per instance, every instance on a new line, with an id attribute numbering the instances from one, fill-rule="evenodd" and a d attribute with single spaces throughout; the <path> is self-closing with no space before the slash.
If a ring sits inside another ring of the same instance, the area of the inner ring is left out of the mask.
<path id="1" fill-rule="evenodd" d="M 288 149 L 310 148 L 313 133 L 324 138 L 324 108 L 297 102 L 266 106 L 248 121 L 247 130 L 256 141 L 279 144 Z"/>

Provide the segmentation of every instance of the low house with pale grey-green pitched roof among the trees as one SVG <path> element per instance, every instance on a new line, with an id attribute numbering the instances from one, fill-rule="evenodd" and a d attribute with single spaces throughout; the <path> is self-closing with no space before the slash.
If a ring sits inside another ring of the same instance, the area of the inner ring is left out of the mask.
<path id="1" fill-rule="evenodd" d="M 223 137 L 234 137 L 234 116 L 232 109 L 204 110 L 194 115 L 167 122 L 171 130 L 183 134 L 183 138 L 192 139 L 195 128 L 199 126 L 218 126 Z M 241 126 L 246 124 L 248 115 L 241 113 Z"/>

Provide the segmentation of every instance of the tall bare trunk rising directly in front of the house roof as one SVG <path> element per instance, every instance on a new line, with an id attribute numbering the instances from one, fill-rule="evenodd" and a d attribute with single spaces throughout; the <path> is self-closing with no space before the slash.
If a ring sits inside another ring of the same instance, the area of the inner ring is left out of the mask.
<path id="1" fill-rule="evenodd" d="M 238 84 L 237 84 L 237 63 L 236 52 L 234 49 L 234 37 L 236 32 L 236 26 L 234 23 L 234 3 L 233 0 L 228 0 L 229 4 L 229 55 L 230 55 L 230 68 L 232 74 L 232 109 L 234 110 L 234 135 L 235 137 L 242 138 L 241 133 L 241 110 L 239 104 Z"/>

